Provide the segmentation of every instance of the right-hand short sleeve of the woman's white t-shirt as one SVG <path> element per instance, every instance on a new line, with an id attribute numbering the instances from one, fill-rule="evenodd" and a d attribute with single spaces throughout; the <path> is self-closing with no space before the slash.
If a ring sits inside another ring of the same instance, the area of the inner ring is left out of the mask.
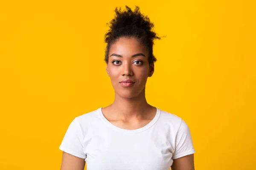
<path id="1" fill-rule="evenodd" d="M 172 159 L 177 159 L 192 153 L 195 153 L 192 136 L 186 122 L 181 120 L 175 140 L 175 151 L 172 155 Z"/>

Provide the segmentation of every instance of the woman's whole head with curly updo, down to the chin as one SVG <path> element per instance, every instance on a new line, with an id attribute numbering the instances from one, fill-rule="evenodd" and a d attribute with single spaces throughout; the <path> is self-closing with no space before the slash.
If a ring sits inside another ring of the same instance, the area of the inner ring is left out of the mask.
<path id="1" fill-rule="evenodd" d="M 140 13 L 138 6 L 134 11 L 125 7 L 124 11 L 115 9 L 115 18 L 105 34 L 105 62 L 116 94 L 134 98 L 145 93 L 147 79 L 154 73 L 157 59 L 153 55 L 153 45 L 160 37 L 152 31 L 154 24 Z M 132 83 L 122 83 L 125 79 Z"/>

